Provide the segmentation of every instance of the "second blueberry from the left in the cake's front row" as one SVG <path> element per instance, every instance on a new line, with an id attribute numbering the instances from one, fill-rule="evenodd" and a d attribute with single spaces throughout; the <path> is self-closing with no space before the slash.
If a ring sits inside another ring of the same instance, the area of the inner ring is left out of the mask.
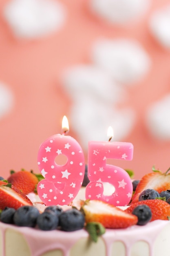
<path id="1" fill-rule="evenodd" d="M 37 208 L 25 205 L 15 211 L 13 220 L 17 226 L 35 227 L 39 215 L 40 213 Z"/>

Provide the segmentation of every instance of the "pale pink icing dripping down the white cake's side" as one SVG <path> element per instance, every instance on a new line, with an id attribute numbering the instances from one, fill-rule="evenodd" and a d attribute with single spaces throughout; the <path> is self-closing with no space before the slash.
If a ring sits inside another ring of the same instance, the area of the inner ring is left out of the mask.
<path id="1" fill-rule="evenodd" d="M 150 248 L 150 256 L 153 254 L 153 243 L 158 232 L 168 224 L 167 221 L 156 220 L 145 226 L 132 226 L 127 229 L 107 229 L 102 236 L 106 245 L 106 256 L 111 256 L 111 245 L 115 241 L 121 241 L 126 247 L 126 256 L 130 256 L 130 248 L 138 240 L 144 240 Z M 41 231 L 29 227 L 16 227 L 0 223 L 2 231 L 2 256 L 5 256 L 5 231 L 7 228 L 21 232 L 25 237 L 32 256 L 40 256 L 41 254 L 53 250 L 61 249 L 64 256 L 70 255 L 71 247 L 79 240 L 79 238 L 87 238 L 88 233 L 82 229 L 79 231 L 64 232 L 64 231 Z M 73 234 L 73 235 L 72 235 Z"/>

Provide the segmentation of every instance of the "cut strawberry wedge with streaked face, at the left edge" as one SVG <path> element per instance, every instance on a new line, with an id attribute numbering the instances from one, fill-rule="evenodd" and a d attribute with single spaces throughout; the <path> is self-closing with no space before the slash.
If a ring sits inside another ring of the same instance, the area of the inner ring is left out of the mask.
<path id="1" fill-rule="evenodd" d="M 11 184 L 0 186 L 0 209 L 12 207 L 18 209 L 24 205 L 33 205 L 32 202 L 20 190 Z"/>

